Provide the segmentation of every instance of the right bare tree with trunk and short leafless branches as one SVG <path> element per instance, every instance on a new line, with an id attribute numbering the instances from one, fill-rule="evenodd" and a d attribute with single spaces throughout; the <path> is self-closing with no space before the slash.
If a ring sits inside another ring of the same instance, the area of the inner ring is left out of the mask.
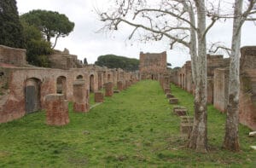
<path id="1" fill-rule="evenodd" d="M 225 125 L 224 148 L 230 151 L 239 151 L 239 91 L 240 91 L 240 48 L 241 48 L 241 26 L 246 20 L 255 21 L 256 17 L 256 0 L 235 0 L 233 4 L 234 11 L 232 14 L 220 14 L 220 18 L 233 19 L 231 48 L 221 43 L 213 43 L 212 53 L 218 50 L 224 50 L 230 56 L 230 81 L 229 81 L 229 98 L 227 107 L 227 117 Z M 243 9 L 243 6 L 246 8 Z"/>

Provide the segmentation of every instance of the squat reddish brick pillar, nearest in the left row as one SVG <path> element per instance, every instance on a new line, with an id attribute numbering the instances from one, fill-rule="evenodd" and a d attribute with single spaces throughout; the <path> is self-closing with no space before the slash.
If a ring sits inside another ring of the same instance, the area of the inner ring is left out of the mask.
<path id="1" fill-rule="evenodd" d="M 45 96 L 46 124 L 47 125 L 67 125 L 68 101 L 64 100 L 63 94 L 50 94 Z"/>

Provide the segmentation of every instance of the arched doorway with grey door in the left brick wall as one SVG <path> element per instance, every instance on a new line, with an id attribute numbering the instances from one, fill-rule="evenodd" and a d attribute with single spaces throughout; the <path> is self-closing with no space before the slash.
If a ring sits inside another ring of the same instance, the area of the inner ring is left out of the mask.
<path id="1" fill-rule="evenodd" d="M 38 78 L 28 78 L 25 84 L 26 113 L 33 113 L 41 108 L 41 81 Z"/>

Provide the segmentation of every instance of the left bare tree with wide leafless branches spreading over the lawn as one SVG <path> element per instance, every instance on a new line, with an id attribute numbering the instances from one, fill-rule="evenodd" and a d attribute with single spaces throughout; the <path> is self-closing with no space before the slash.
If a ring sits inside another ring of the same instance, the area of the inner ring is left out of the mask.
<path id="1" fill-rule="evenodd" d="M 212 22 L 206 26 L 204 0 L 161 0 L 160 3 L 154 1 L 151 6 L 146 0 L 117 0 L 115 5 L 116 9 L 99 12 L 106 23 L 103 29 L 118 30 L 125 23 L 134 27 L 130 38 L 143 31 L 142 40 L 166 38 L 171 49 L 177 43 L 189 48 L 195 84 L 195 119 L 188 146 L 198 152 L 207 152 L 206 35 L 218 20 L 217 14 L 211 14 Z"/>

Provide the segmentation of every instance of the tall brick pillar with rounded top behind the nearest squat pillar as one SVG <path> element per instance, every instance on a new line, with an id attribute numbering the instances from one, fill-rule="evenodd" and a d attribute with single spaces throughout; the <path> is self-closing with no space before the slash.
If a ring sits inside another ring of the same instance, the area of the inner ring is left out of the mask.
<path id="1" fill-rule="evenodd" d="M 73 83 L 73 111 L 86 113 L 89 111 L 89 90 L 86 90 L 83 79 Z"/>

